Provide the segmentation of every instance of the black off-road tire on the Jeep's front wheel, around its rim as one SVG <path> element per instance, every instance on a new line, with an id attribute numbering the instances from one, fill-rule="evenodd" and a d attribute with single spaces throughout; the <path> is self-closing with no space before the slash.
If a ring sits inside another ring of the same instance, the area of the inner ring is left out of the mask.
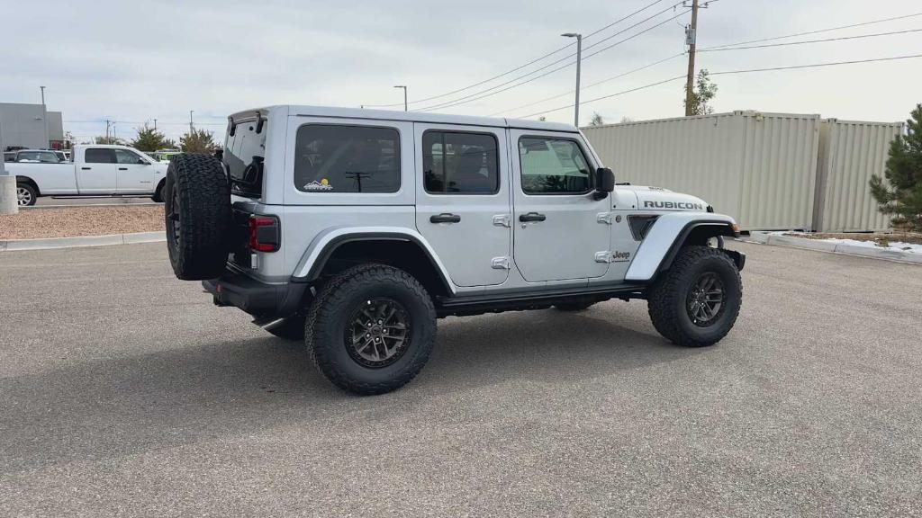
<path id="1" fill-rule="evenodd" d="M 713 322 L 695 324 L 688 308 L 693 283 L 713 273 L 722 283 L 724 303 Z M 656 279 L 647 294 L 647 311 L 656 331 L 684 347 L 704 347 L 727 336 L 737 321 L 742 304 L 742 281 L 733 260 L 721 250 L 707 246 L 681 249 L 667 272 Z"/>

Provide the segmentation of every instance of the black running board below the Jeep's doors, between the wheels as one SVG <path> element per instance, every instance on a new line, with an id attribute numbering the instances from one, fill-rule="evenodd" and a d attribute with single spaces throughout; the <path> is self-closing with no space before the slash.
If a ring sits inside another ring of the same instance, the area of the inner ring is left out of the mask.
<path id="1" fill-rule="evenodd" d="M 538 310 L 562 303 L 585 300 L 600 302 L 609 299 L 645 299 L 647 286 L 641 284 L 601 288 L 567 288 L 538 293 L 502 293 L 460 297 L 437 297 L 435 312 L 439 317 L 471 315 L 485 312 Z"/>

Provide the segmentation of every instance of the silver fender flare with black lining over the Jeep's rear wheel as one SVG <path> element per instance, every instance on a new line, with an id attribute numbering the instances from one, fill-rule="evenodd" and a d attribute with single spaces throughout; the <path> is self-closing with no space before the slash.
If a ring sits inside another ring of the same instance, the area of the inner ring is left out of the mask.
<path id="1" fill-rule="evenodd" d="M 455 294 L 455 285 L 448 276 L 448 270 L 439 260 L 439 256 L 429 242 L 416 230 L 398 227 L 340 227 L 325 231 L 311 241 L 301 256 L 294 274 L 291 275 L 291 281 L 313 282 L 316 280 L 337 248 L 347 242 L 376 240 L 408 241 L 419 246 L 439 274 L 445 289 L 448 293 Z"/>

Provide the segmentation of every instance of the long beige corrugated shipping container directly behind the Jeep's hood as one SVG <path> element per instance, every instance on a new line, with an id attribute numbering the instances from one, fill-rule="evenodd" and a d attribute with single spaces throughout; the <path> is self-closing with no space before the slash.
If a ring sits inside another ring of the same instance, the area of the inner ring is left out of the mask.
<path id="1" fill-rule="evenodd" d="M 730 112 L 582 129 L 618 182 L 699 196 L 743 230 L 810 230 L 820 123 Z"/>

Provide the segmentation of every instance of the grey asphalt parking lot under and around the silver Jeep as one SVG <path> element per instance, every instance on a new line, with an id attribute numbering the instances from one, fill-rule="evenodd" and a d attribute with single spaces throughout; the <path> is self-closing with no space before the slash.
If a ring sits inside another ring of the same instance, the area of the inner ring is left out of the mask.
<path id="1" fill-rule="evenodd" d="M 0 513 L 922 513 L 922 267 L 731 246 L 715 347 L 642 301 L 452 318 L 364 398 L 162 243 L 0 253 Z"/>

